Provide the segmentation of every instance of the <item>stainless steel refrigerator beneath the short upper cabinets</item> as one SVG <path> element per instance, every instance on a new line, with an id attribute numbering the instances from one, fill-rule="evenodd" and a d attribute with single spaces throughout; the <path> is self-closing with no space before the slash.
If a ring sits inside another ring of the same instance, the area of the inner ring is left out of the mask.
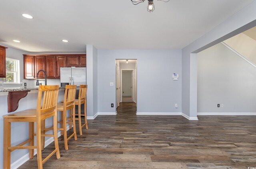
<path id="1" fill-rule="evenodd" d="M 60 68 L 60 83 L 77 87 L 86 84 L 86 68 Z"/>

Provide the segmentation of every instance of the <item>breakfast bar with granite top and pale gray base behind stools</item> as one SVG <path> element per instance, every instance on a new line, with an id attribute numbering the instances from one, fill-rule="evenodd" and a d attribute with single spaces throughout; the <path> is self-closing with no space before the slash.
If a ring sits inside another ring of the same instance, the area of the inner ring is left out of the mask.
<path id="1" fill-rule="evenodd" d="M 62 101 L 64 98 L 64 88 L 60 87 L 58 94 L 58 102 Z M 8 113 L 8 92 L 13 91 L 28 91 L 28 94 L 20 99 L 18 103 L 18 109 L 13 112 L 23 111 L 26 109 L 36 109 L 37 97 L 38 97 L 38 88 L 4 88 L 0 89 L 0 145 L 3 145 L 3 128 L 4 120 L 3 115 L 10 114 Z M 12 113 L 13 113 L 12 112 Z M 60 120 L 60 119 L 59 119 Z M 52 119 L 46 120 L 46 127 L 52 126 Z M 19 145 L 20 143 L 28 140 L 28 123 L 12 123 L 11 126 L 12 135 L 11 135 L 11 145 Z M 48 133 L 51 134 L 52 131 Z M 46 137 L 46 146 L 50 144 L 53 140 L 52 137 Z M 26 161 L 29 159 L 27 149 L 16 150 L 16 153 L 11 154 L 11 168 L 17 168 L 17 161 Z M 0 168 L 3 164 L 3 147 L 0 146 Z"/>

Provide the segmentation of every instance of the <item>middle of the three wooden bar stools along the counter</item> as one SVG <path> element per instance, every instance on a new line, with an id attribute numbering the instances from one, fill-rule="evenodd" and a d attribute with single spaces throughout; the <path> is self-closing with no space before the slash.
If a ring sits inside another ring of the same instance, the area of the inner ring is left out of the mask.
<path id="1" fill-rule="evenodd" d="M 62 111 L 62 113 L 60 114 L 61 121 L 58 121 L 58 123 L 60 123 L 60 128 L 58 128 L 58 130 L 61 130 L 61 134 L 64 135 L 65 150 L 68 150 L 68 140 L 70 140 L 73 136 L 74 136 L 74 139 L 77 140 L 76 121 L 75 121 L 75 118 L 72 118 L 72 116 L 75 117 L 75 99 L 76 99 L 76 85 L 66 85 L 65 93 L 64 93 L 64 101 L 63 103 L 58 103 L 57 105 L 57 111 Z M 70 117 L 67 118 L 67 110 L 69 109 L 70 109 Z M 73 124 L 74 132 L 69 137 L 67 136 L 67 129 L 66 129 L 67 123 L 70 125 L 70 128 L 72 128 L 72 124 Z M 52 130 L 52 128 L 44 128 L 43 132 L 48 130 Z"/>

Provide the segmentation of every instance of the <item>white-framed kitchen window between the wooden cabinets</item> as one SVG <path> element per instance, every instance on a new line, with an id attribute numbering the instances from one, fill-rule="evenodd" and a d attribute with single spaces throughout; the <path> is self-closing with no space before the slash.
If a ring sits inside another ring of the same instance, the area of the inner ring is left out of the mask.
<path id="1" fill-rule="evenodd" d="M 20 61 L 16 59 L 6 58 L 6 78 L 5 84 L 20 83 Z"/>

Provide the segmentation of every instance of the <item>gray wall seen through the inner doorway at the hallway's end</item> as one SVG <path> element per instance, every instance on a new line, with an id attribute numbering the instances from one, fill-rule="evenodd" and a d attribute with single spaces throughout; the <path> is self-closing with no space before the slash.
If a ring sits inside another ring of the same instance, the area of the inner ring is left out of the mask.
<path id="1" fill-rule="evenodd" d="M 132 95 L 132 70 L 122 71 L 122 95 Z"/>

